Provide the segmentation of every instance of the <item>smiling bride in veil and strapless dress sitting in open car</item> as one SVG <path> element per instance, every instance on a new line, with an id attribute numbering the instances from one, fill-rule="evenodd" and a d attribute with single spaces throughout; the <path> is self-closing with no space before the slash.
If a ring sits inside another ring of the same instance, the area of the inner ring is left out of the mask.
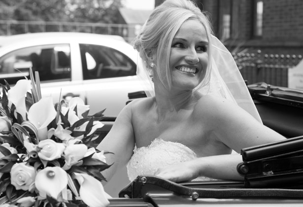
<path id="1" fill-rule="evenodd" d="M 173 181 L 243 179 L 242 148 L 283 139 L 264 126 L 235 61 L 190 0 L 166 0 L 136 37 L 137 73 L 151 82 L 148 98 L 118 115 L 98 149 L 130 180 L 155 174 Z M 172 166 L 170 166 L 172 165 Z"/>

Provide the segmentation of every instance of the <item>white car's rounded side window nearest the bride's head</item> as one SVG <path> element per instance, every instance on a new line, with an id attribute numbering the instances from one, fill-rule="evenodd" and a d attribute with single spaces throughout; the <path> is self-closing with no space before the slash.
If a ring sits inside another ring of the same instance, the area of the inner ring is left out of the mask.
<path id="1" fill-rule="evenodd" d="M 84 80 L 135 75 L 136 65 L 113 48 L 80 44 Z"/>

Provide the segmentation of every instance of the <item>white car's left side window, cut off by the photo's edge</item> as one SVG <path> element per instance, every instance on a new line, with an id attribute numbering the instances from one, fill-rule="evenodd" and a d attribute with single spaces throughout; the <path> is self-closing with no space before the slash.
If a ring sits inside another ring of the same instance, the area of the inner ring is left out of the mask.
<path id="1" fill-rule="evenodd" d="M 0 82 L 3 84 L 5 79 L 15 84 L 24 76 L 29 77 L 30 67 L 39 71 L 41 82 L 71 80 L 69 45 L 27 47 L 0 57 Z"/>

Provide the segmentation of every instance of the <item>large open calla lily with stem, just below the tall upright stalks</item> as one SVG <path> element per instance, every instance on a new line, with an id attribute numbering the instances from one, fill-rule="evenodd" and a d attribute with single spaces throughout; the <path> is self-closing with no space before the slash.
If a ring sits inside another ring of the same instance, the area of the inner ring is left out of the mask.
<path id="1" fill-rule="evenodd" d="M 42 98 L 33 104 L 28 112 L 28 119 L 38 131 L 38 139 L 47 139 L 47 126 L 56 118 L 52 97 Z"/>

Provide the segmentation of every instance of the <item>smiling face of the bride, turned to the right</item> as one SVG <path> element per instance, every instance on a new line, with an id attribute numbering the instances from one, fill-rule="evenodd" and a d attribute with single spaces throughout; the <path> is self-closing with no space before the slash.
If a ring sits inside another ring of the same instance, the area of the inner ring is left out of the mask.
<path id="1" fill-rule="evenodd" d="M 199 20 L 184 22 L 171 43 L 169 68 L 172 88 L 191 90 L 203 80 L 208 64 L 208 40 Z"/>

